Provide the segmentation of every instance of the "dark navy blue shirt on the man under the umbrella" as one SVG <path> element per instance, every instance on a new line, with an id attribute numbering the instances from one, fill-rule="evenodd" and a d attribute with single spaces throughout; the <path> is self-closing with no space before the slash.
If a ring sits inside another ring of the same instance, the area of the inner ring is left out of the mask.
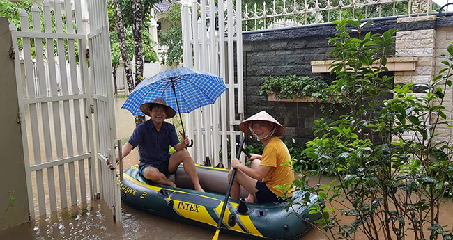
<path id="1" fill-rule="evenodd" d="M 151 119 L 135 127 L 128 142 L 133 148 L 139 147 L 140 167 L 155 168 L 159 168 L 162 161 L 169 159 L 170 146 L 179 143 L 174 125 L 162 122 L 160 131 L 157 131 Z"/>

